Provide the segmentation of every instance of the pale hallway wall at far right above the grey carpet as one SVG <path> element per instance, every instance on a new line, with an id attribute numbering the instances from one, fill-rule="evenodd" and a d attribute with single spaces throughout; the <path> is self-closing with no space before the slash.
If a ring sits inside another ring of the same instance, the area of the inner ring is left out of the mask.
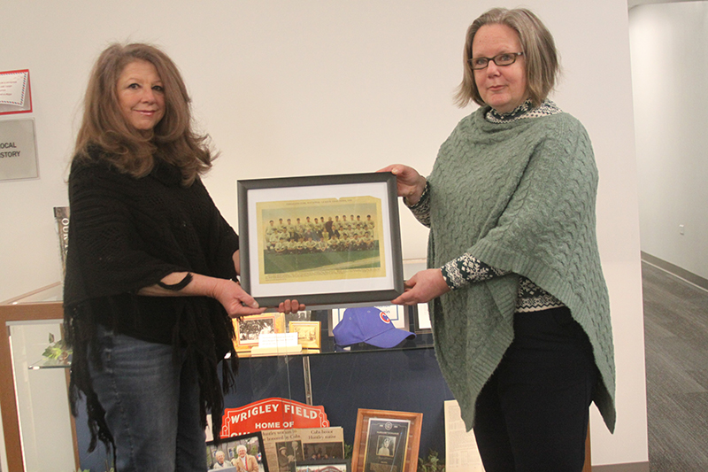
<path id="1" fill-rule="evenodd" d="M 708 278 L 708 2 L 629 19 L 642 250 Z"/>

